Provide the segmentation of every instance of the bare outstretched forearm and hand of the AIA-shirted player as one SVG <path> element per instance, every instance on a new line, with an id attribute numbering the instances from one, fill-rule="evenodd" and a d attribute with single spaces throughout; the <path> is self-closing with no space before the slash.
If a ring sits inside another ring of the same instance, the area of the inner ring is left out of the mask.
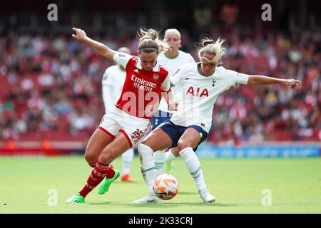
<path id="1" fill-rule="evenodd" d="M 295 89 L 297 86 L 300 86 L 300 81 L 295 79 L 280 79 L 280 78 L 271 78 L 266 76 L 249 76 L 248 85 L 251 86 L 262 86 L 262 85 L 272 85 L 280 84 L 288 86 L 291 89 Z"/>

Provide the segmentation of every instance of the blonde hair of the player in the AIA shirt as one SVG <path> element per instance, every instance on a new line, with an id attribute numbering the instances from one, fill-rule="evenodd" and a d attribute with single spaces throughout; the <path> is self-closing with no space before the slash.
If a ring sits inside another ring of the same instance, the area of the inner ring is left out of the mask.
<path id="1" fill-rule="evenodd" d="M 204 38 L 202 42 L 202 47 L 198 49 L 198 58 L 200 61 L 207 61 L 208 63 L 222 63 L 221 59 L 225 53 L 225 48 L 223 46 L 224 39 L 218 38 L 217 41 L 213 41 L 212 38 Z M 205 53 L 215 56 L 211 61 L 208 58 L 203 57 Z"/>

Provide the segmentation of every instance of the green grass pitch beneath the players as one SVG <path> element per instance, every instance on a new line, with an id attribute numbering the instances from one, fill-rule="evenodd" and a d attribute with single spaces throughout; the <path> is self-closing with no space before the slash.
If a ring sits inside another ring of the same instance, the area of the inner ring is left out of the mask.
<path id="1" fill-rule="evenodd" d="M 200 159 L 215 203 L 203 203 L 182 160 L 175 160 L 178 195 L 161 204 L 132 204 L 147 194 L 135 157 L 137 182 L 116 182 L 86 204 L 64 204 L 83 187 L 91 167 L 81 156 L 0 157 L 0 213 L 321 213 L 321 158 Z M 121 170 L 121 160 L 115 162 Z M 49 206 L 57 192 L 58 204 Z M 272 205 L 263 206 L 263 190 Z"/>

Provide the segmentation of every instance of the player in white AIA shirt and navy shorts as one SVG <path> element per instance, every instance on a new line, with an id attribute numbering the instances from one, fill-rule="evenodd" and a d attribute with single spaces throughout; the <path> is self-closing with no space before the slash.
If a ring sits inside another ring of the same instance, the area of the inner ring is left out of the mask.
<path id="1" fill-rule="evenodd" d="M 171 85 L 180 87 L 183 102 L 178 104 L 178 111 L 173 113 L 170 120 L 159 125 L 138 145 L 141 169 L 149 194 L 133 203 L 162 201 L 153 194 L 153 180 L 156 178 L 153 152 L 176 146 L 179 150 L 178 155 L 182 157 L 190 175 L 194 178 L 200 198 L 203 202 L 215 202 L 215 197 L 210 195 L 205 185 L 200 161 L 194 151 L 208 135 L 212 125 L 213 106 L 218 95 L 239 84 L 251 86 L 280 84 L 290 86 L 292 89 L 300 85 L 300 81 L 294 79 L 249 76 L 227 70 L 223 66 L 217 67 L 224 53 L 222 43 L 220 38 L 216 42 L 210 38 L 205 39 L 203 48 L 198 51 L 200 63 L 185 64 L 170 76 Z"/>

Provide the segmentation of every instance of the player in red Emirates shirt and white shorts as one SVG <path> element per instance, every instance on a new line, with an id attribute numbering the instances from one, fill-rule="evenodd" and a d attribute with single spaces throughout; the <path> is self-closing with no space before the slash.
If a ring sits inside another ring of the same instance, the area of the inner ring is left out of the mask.
<path id="1" fill-rule="evenodd" d="M 108 191 L 111 182 L 119 176 L 119 172 L 109 164 L 148 132 L 153 109 L 159 105 L 161 90 L 170 89 L 168 71 L 157 61 L 158 53 L 168 45 L 158 39 L 157 31 L 141 29 L 138 33 L 138 56 L 130 56 L 88 38 L 79 28 L 73 28 L 73 31 L 76 32 L 73 38 L 88 43 L 102 56 L 113 59 L 126 69 L 121 97 L 115 107 L 103 116 L 86 147 L 85 159 L 93 167 L 91 175 L 83 189 L 66 200 L 66 203 L 84 203 L 86 195 L 101 181 L 98 194 Z"/>

